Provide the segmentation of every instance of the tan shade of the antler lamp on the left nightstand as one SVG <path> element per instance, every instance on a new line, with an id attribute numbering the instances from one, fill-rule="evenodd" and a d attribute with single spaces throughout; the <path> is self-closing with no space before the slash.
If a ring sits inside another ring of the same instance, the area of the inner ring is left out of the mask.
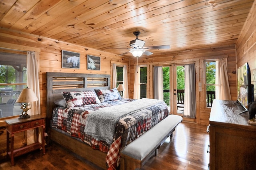
<path id="1" fill-rule="evenodd" d="M 38 98 L 36 97 L 36 94 L 33 92 L 31 88 L 24 88 L 18 99 L 16 100 L 17 103 L 25 103 L 25 102 L 34 102 L 37 101 Z"/>

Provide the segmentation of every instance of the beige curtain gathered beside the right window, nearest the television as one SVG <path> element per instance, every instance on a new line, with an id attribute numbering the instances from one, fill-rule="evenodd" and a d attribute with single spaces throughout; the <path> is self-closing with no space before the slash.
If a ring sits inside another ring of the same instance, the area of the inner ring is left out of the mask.
<path id="1" fill-rule="evenodd" d="M 220 100 L 231 100 L 226 63 L 227 58 L 216 61 L 215 98 Z"/>

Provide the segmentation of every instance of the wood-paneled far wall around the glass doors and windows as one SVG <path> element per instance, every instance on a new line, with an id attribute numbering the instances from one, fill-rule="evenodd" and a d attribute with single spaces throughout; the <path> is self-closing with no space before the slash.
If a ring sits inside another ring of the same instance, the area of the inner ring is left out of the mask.
<path id="1" fill-rule="evenodd" d="M 196 67 L 196 90 L 198 90 L 198 83 L 202 83 L 202 91 L 198 93 L 199 100 L 197 99 L 197 113 L 196 121 L 197 123 L 207 125 L 209 123 L 210 108 L 206 108 L 205 100 L 206 94 L 204 93 L 204 60 L 208 59 L 217 59 L 217 58 L 228 58 L 228 80 L 231 92 L 232 100 L 236 100 L 236 48 L 235 45 L 223 45 L 220 47 L 208 47 L 201 49 L 193 49 L 187 51 L 177 51 L 173 53 L 166 53 L 164 56 L 150 56 L 150 57 L 140 57 L 138 63 L 148 64 L 149 71 L 149 95 L 150 98 L 153 98 L 153 71 L 152 68 L 154 65 L 171 65 L 171 64 L 182 64 L 182 63 L 197 63 Z M 136 58 L 131 59 L 130 66 L 130 87 L 134 86 L 134 66 L 136 66 Z M 198 90 L 199 91 L 199 90 Z M 133 89 L 131 89 L 131 97 L 133 94 Z M 198 109 L 199 108 L 199 109 Z"/>

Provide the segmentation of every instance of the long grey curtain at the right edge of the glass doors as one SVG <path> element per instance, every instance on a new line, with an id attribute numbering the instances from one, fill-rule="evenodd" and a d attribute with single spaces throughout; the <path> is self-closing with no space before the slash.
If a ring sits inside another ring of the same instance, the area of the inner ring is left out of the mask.
<path id="1" fill-rule="evenodd" d="M 195 64 L 185 65 L 184 117 L 196 118 Z"/>

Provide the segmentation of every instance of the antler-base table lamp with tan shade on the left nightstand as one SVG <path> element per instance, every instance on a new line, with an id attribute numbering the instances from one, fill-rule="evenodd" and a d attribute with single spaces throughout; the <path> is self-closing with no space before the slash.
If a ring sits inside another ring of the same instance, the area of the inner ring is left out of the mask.
<path id="1" fill-rule="evenodd" d="M 17 103 L 21 103 L 21 109 L 22 114 L 20 115 L 19 119 L 26 119 L 30 118 L 30 115 L 28 115 L 28 110 L 31 109 L 31 105 L 28 102 L 35 102 L 38 98 L 36 97 L 36 94 L 33 92 L 31 88 L 24 88 L 18 99 L 16 100 Z M 22 104 L 23 103 L 23 104 Z"/>

